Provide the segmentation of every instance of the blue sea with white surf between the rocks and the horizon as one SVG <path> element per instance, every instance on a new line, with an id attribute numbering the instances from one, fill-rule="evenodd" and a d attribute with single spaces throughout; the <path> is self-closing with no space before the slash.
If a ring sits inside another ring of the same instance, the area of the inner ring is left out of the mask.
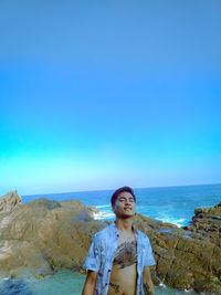
<path id="1" fill-rule="evenodd" d="M 86 206 L 96 207 L 101 211 L 97 219 L 114 220 L 109 201 L 113 192 L 113 190 L 98 190 L 22 196 L 22 202 L 40 197 L 56 201 L 75 199 Z M 221 202 L 221 185 L 143 188 L 135 189 L 135 194 L 137 213 L 182 226 L 189 223 L 196 208 L 213 207 Z"/>

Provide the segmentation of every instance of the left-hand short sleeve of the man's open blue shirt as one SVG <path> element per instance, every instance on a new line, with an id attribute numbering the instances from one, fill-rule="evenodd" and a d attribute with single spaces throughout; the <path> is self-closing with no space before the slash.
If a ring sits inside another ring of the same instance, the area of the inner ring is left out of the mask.
<path id="1" fill-rule="evenodd" d="M 97 243 L 96 235 L 94 235 L 91 241 L 88 254 L 83 265 L 86 270 L 98 272 L 99 270 L 99 254 L 98 253 L 99 253 L 98 243 Z"/>

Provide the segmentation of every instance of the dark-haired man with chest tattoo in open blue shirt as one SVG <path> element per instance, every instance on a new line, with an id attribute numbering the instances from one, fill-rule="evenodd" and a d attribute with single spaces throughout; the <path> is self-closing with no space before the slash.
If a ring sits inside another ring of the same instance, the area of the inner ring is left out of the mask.
<path id="1" fill-rule="evenodd" d="M 149 239 L 133 226 L 136 197 L 129 187 L 112 196 L 116 221 L 92 238 L 82 295 L 154 295 Z"/>

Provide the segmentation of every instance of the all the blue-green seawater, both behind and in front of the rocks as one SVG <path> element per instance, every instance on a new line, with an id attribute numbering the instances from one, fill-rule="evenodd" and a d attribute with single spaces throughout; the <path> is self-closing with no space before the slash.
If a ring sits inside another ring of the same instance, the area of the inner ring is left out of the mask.
<path id="1" fill-rule="evenodd" d="M 221 185 L 201 185 L 183 187 L 134 188 L 136 194 L 136 212 L 145 217 L 177 224 L 188 225 L 196 208 L 209 208 L 221 202 Z M 22 203 L 45 197 L 50 200 L 78 200 L 85 206 L 99 210 L 95 219 L 114 221 L 110 207 L 114 190 L 61 192 L 48 194 L 22 196 Z M 0 295 L 81 295 L 85 274 L 60 268 L 52 276 L 44 278 L 0 281 Z M 178 291 L 164 283 L 155 287 L 156 295 L 196 294 L 192 291 Z"/>

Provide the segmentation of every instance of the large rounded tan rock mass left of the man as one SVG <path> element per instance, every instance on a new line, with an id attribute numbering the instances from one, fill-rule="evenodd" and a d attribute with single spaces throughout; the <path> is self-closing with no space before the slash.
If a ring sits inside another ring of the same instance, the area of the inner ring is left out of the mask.
<path id="1" fill-rule="evenodd" d="M 81 271 L 92 235 L 105 226 L 78 201 L 41 198 L 0 214 L 0 277 Z"/>

